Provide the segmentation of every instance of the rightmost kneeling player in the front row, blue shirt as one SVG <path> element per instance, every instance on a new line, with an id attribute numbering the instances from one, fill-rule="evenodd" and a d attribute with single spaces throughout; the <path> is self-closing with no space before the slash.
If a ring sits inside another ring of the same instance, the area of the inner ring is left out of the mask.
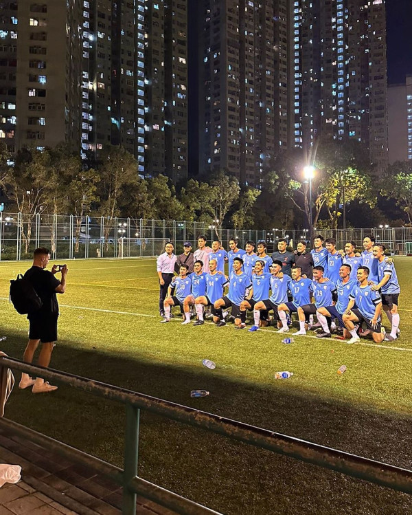
<path id="1" fill-rule="evenodd" d="M 374 292 L 372 286 L 368 285 L 369 268 L 360 266 L 356 271 L 358 283 L 352 289 L 349 296 L 349 303 L 343 314 L 343 322 L 352 338 L 347 343 L 360 342 L 356 333 L 354 322 L 365 322 L 368 329 L 372 331 L 374 342 L 380 343 L 385 338 L 380 327 L 380 311 L 382 311 L 382 300 L 379 292 Z M 356 308 L 354 305 L 356 303 Z"/>

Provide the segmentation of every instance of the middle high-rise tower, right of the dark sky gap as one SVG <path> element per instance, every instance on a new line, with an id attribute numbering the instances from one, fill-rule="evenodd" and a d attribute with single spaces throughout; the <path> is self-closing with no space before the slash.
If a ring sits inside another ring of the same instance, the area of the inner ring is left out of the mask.
<path id="1" fill-rule="evenodd" d="M 201 4 L 199 167 L 259 186 L 287 143 L 286 0 Z"/>

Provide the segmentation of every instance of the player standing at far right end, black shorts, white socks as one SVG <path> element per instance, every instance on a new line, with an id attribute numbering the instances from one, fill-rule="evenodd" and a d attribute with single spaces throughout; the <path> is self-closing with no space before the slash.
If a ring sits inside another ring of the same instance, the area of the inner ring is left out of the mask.
<path id="1" fill-rule="evenodd" d="M 385 245 L 374 245 L 374 259 L 378 261 L 378 279 L 379 283 L 372 286 L 372 291 L 381 290 L 382 307 L 387 314 L 391 323 L 391 333 L 385 338 L 387 342 L 393 342 L 398 338 L 398 328 L 400 316 L 398 313 L 398 299 L 400 294 L 400 285 L 398 276 L 396 275 L 395 265 L 389 263 L 385 256 Z"/>

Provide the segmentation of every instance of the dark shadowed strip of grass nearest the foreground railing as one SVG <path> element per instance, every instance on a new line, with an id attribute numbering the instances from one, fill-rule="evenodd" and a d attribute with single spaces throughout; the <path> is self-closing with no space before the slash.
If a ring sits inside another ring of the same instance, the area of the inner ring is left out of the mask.
<path id="1" fill-rule="evenodd" d="M 2 350 L 21 358 L 26 340 L 10 334 Z M 365 457 L 412 468 L 411 418 L 379 413 L 312 393 L 288 382 L 262 388 L 208 369 L 130 360 L 60 342 L 54 369 L 91 377 L 247 424 L 264 427 Z M 130 373 L 130 368 L 133 372 Z M 125 371 L 129 371 L 125 373 Z M 16 375 L 19 375 L 16 373 Z M 192 389 L 210 397 L 192 399 Z M 6 406 L 19 421 L 117 465 L 122 465 L 124 408 L 62 386 L 32 395 L 15 388 Z M 229 441 L 144 413 L 139 470 L 145 479 L 226 514 L 407 513 L 412 498 L 391 490 Z M 343 499 L 345 502 L 343 503 Z"/>

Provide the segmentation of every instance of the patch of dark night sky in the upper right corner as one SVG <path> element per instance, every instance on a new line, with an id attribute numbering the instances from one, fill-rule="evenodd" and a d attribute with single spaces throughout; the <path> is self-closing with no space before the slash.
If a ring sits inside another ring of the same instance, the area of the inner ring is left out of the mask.
<path id="1" fill-rule="evenodd" d="M 387 0 L 387 59 L 389 84 L 412 74 L 412 0 Z"/>

